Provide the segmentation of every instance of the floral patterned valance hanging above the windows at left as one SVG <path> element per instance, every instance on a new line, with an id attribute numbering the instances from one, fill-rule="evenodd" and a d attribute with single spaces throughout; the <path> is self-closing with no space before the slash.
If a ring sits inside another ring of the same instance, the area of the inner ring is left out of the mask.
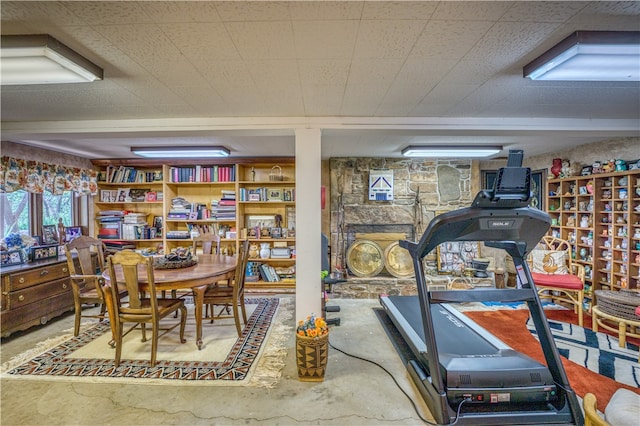
<path id="1" fill-rule="evenodd" d="M 98 172 L 4 156 L 0 163 L 0 192 L 19 189 L 34 193 L 46 190 L 54 195 L 64 191 L 96 195 Z"/>

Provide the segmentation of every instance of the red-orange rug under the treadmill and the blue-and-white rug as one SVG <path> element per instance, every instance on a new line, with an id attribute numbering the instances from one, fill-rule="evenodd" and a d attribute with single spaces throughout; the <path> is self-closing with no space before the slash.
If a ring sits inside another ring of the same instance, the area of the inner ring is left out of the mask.
<path id="1" fill-rule="evenodd" d="M 550 309 L 545 313 L 548 319 L 578 324 L 577 315 L 570 310 Z M 546 365 L 540 343 L 526 327 L 528 310 L 470 311 L 465 314 L 513 349 Z M 591 317 L 587 315 L 584 317 L 584 327 L 591 328 Z M 638 343 L 637 339 L 630 342 Z M 562 364 L 573 390 L 580 397 L 584 397 L 587 392 L 593 393 L 598 401 L 598 409 L 601 411 L 604 411 L 613 393 L 622 387 L 640 394 L 637 388 L 620 384 L 565 358 L 562 358 Z"/>

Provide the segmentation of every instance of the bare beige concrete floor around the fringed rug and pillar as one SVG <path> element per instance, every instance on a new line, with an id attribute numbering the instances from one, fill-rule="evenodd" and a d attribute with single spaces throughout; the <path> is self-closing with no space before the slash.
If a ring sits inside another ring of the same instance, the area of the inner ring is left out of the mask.
<path id="1" fill-rule="evenodd" d="M 292 297 L 292 296 L 286 296 Z M 385 366 L 432 420 L 380 326 L 377 300 L 340 299 L 341 325 L 330 343 Z M 73 314 L 2 340 L 2 362 L 73 326 Z M 24 379 L 0 382 L 0 423 L 9 425 L 415 425 L 422 424 L 393 380 L 373 364 L 330 350 L 324 382 L 297 379 L 295 336 L 273 389 L 69 383 Z"/>

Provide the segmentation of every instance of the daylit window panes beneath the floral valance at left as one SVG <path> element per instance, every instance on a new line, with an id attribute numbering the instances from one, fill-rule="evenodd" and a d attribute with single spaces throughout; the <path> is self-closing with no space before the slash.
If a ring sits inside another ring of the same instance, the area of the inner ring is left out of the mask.
<path id="1" fill-rule="evenodd" d="M 42 225 L 57 225 L 62 219 L 64 226 L 76 225 L 76 202 L 72 191 L 53 195 L 45 191 L 32 194 L 24 190 L 0 193 L 0 236 L 19 231 L 29 235 L 42 235 Z M 40 212 L 40 214 L 39 214 Z"/>

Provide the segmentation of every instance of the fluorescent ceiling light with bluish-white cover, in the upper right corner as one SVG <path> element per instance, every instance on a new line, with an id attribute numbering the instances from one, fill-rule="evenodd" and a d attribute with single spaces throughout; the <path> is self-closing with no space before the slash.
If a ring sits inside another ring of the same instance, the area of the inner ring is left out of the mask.
<path id="1" fill-rule="evenodd" d="M 640 81 L 640 31 L 576 31 L 525 65 L 524 77 Z"/>

